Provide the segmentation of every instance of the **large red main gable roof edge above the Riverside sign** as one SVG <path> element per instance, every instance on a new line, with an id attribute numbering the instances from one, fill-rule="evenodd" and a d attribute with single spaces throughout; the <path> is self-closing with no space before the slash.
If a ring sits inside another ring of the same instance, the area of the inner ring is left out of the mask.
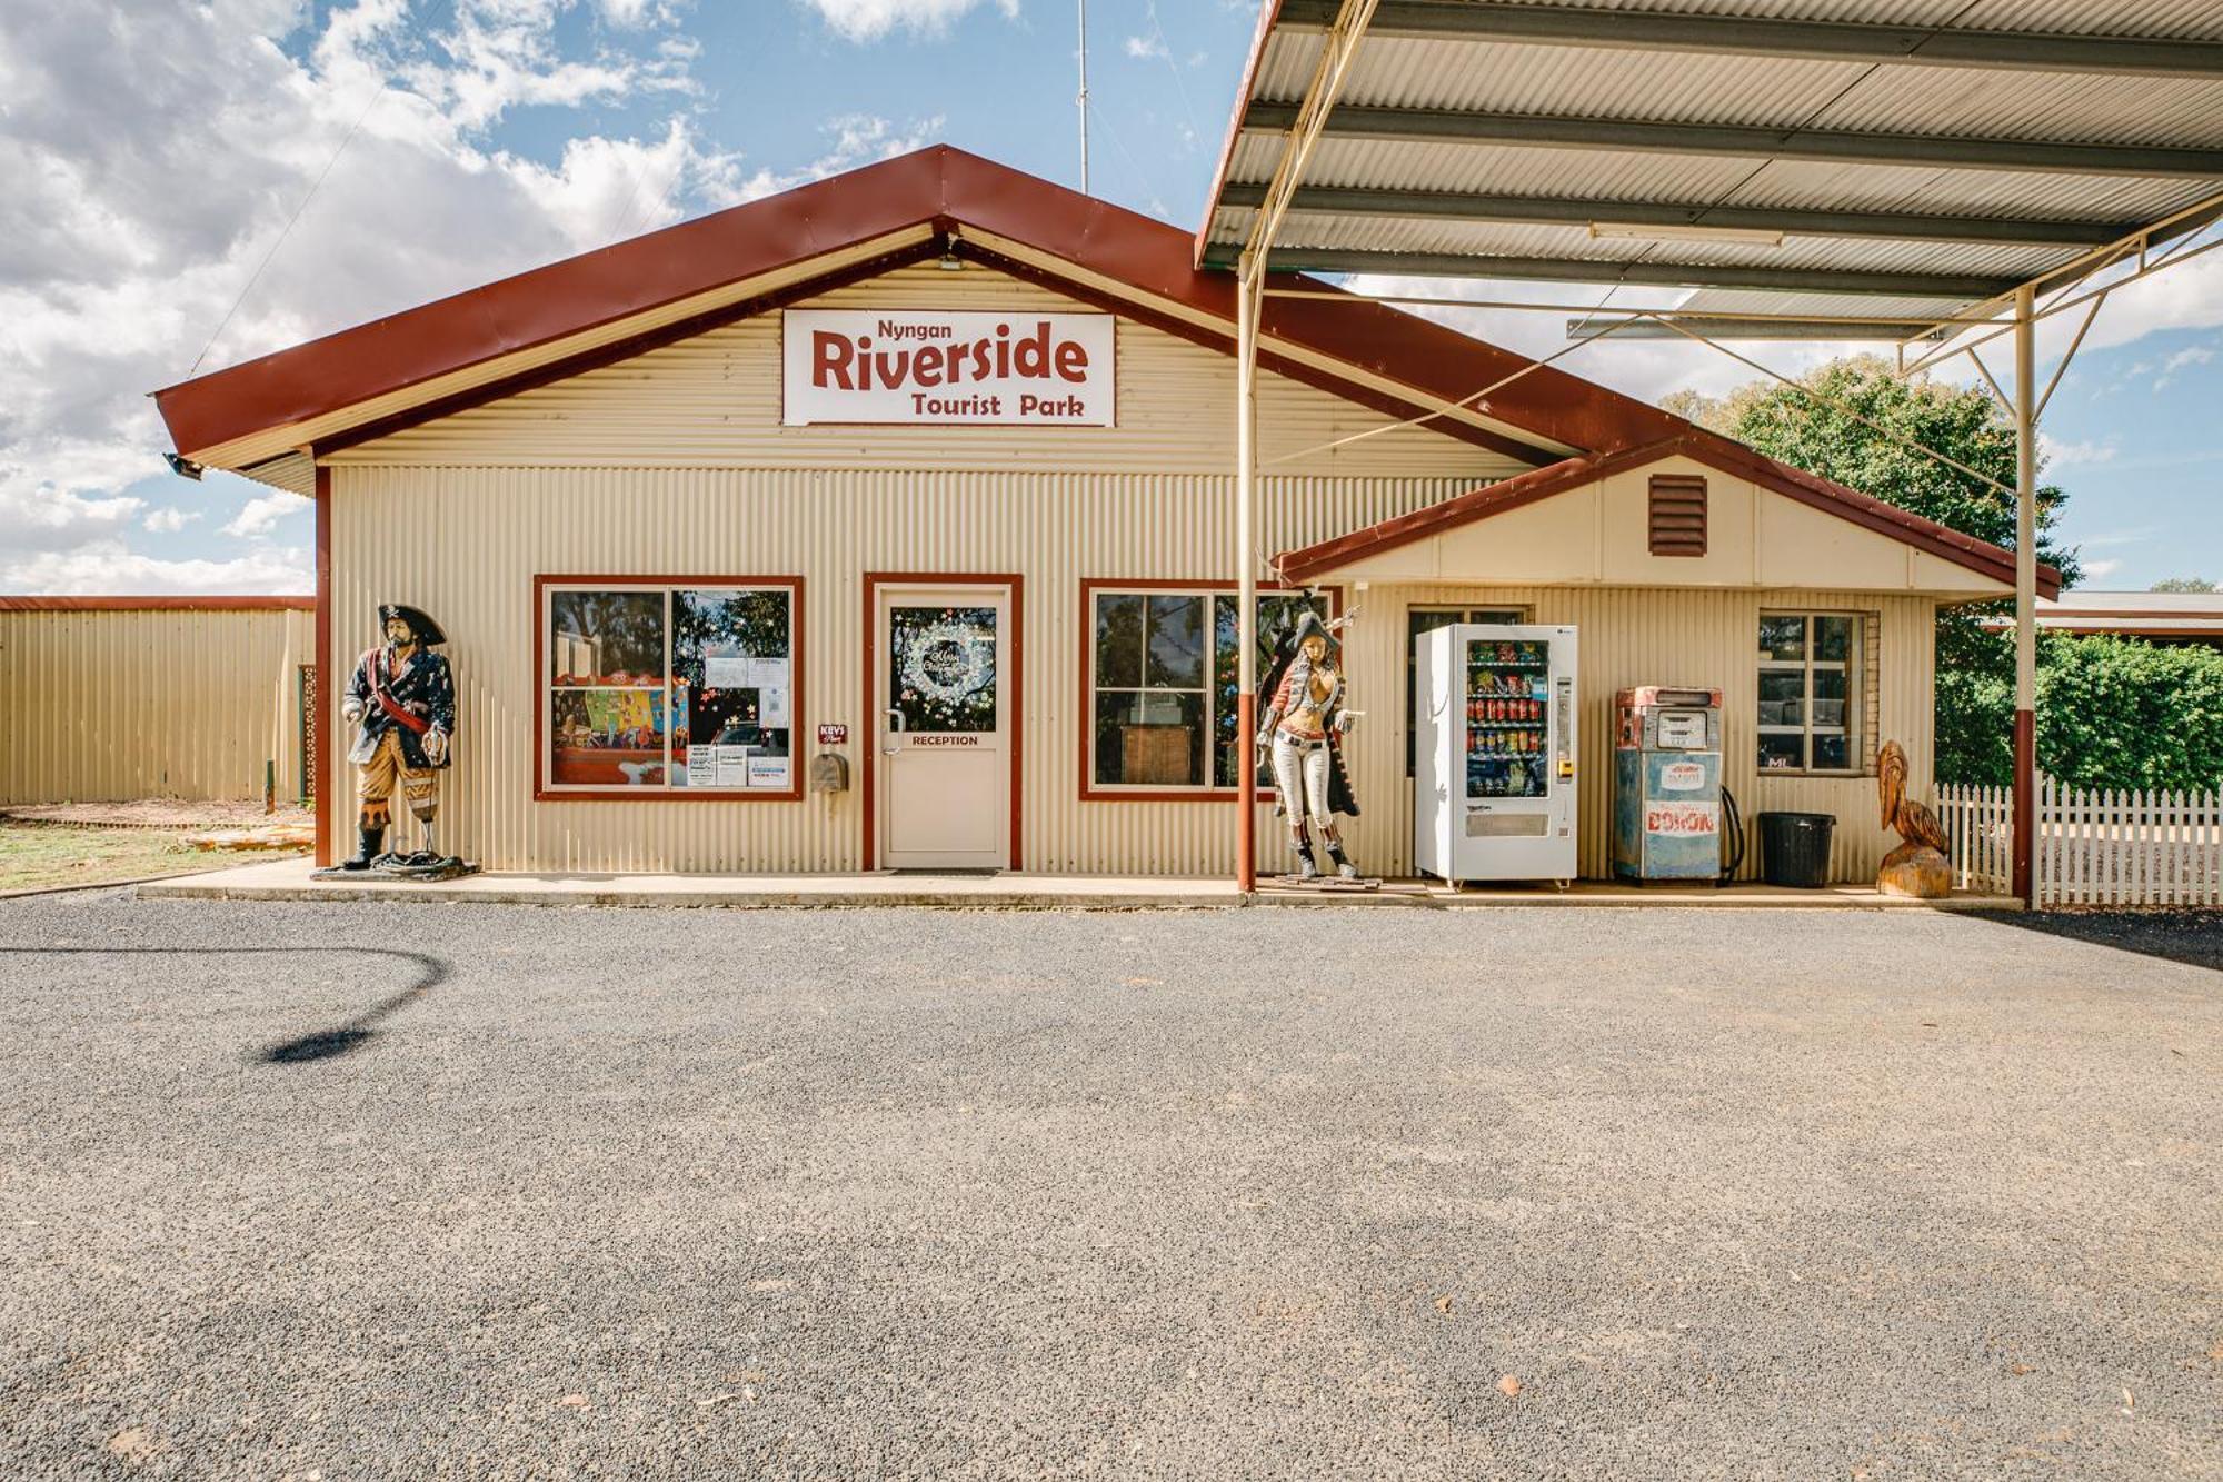
<path id="1" fill-rule="evenodd" d="M 1180 327 L 1189 338 L 1232 349 L 1234 278 L 1198 271 L 1187 231 L 938 145 L 245 360 L 156 392 L 156 403 L 176 447 L 193 454 L 918 227 L 956 229 L 960 236 L 976 227 L 1020 243 L 1071 267 L 1074 278 L 1038 265 L 1007 267 L 1080 296 L 1091 294 L 1083 280 L 1098 278 L 1209 314 L 1227 327 L 1223 334 L 1174 316 L 1163 327 Z M 931 256 L 934 249 L 923 243 L 909 256 Z M 969 256 L 996 263 L 991 251 L 969 249 Z M 1296 276 L 1276 276 L 1276 285 L 1327 287 Z M 736 314 L 762 307 L 751 303 Z M 1434 412 L 1525 372 L 1474 409 L 1538 441 L 1583 449 L 1627 447 L 1687 427 L 1632 396 L 1552 367 L 1532 367 L 1527 356 L 1360 296 L 1267 298 L 1263 329 L 1287 345 L 1412 387 L 1409 401 L 1387 398 L 1400 416 Z M 700 332 L 700 325 L 691 320 L 689 332 Z M 1325 389 L 1385 405 L 1380 389 L 1338 381 L 1334 372 L 1272 354 L 1263 360 Z M 558 374 L 562 369 L 556 367 Z M 1529 461 L 1552 456 L 1549 449 L 1449 418 L 1432 427 Z"/>

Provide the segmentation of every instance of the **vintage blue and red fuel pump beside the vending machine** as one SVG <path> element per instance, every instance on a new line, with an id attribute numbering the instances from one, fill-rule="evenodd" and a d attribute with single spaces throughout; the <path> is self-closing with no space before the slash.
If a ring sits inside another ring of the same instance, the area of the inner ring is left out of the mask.
<path id="1" fill-rule="evenodd" d="M 1721 690 L 1643 685 L 1614 699 L 1614 875 L 1727 879 L 1723 808 L 1743 854 L 1736 801 L 1721 786 Z"/>

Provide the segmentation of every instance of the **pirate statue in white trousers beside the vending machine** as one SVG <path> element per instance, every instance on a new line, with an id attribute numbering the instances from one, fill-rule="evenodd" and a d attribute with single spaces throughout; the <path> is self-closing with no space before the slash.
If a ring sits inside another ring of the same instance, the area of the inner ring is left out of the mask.
<path id="1" fill-rule="evenodd" d="M 1312 830 L 1318 830 L 1336 877 L 1358 879 L 1358 866 L 1343 852 L 1336 814 L 1358 817 L 1352 779 L 1343 768 L 1343 732 L 1358 717 L 1343 708 L 1343 670 L 1336 668 L 1340 643 L 1336 623 L 1323 623 L 1305 610 L 1296 628 L 1280 636 L 1263 692 L 1272 699 L 1258 723 L 1258 752 L 1274 761 L 1274 790 L 1280 812 L 1289 819 L 1289 848 L 1296 850 L 1296 879 L 1320 879 L 1320 861 L 1312 852 Z"/>

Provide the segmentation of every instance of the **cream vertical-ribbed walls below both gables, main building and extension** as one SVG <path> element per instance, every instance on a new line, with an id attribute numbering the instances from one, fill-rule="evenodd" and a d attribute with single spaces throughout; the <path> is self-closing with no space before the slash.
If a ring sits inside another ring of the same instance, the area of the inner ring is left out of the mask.
<path id="1" fill-rule="evenodd" d="M 1194 579 L 1232 565 L 1227 481 L 1054 474 L 889 474 L 811 470 L 347 470 L 340 476 L 333 601 L 338 650 L 376 639 L 380 601 L 433 612 L 453 636 L 462 701 L 447 841 L 489 868 L 849 870 L 860 806 L 836 801 L 531 801 L 531 579 L 536 572 L 805 574 L 805 694 L 798 732 L 851 728 L 865 761 L 863 572 L 1020 572 L 1025 763 L 1023 863 L 1036 870 L 1216 872 L 1234 863 L 1225 806 L 1080 801 L 1083 579 Z M 1269 481 L 1267 521 L 1292 545 L 1452 492 L 1403 481 Z M 516 532 L 531 532 L 520 541 Z M 829 576 L 831 574 L 831 576 Z M 1874 875 L 1892 839 L 1870 777 L 1761 777 L 1752 717 L 1763 610 L 1872 612 L 1863 674 L 1878 728 L 1930 786 L 1932 601 L 1872 592 L 1658 587 L 1372 587 L 1349 639 L 1352 741 L 1363 817 L 1352 846 L 1369 870 L 1412 868 L 1412 783 L 1403 774 L 1403 639 L 1409 605 L 1523 605 L 1581 628 L 1581 870 L 1609 872 L 1612 701 L 1638 683 L 1718 685 L 1725 777 L 1745 808 L 1838 817 L 1832 872 Z M 333 734 L 333 745 L 342 737 Z M 345 763 L 333 752 L 333 765 Z M 336 772 L 345 777 L 342 772 Z M 854 779 L 860 783 L 860 777 Z M 336 817 L 347 819 L 342 808 Z M 1260 821 L 1260 859 L 1283 861 Z M 1747 872 L 1758 866 L 1756 854 Z"/>

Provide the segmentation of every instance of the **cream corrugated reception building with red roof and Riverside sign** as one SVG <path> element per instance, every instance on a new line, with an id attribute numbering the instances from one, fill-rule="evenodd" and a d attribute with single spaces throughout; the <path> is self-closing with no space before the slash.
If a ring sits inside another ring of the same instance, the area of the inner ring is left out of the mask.
<path id="1" fill-rule="evenodd" d="M 1372 870 L 1409 868 L 1407 659 L 1445 610 L 1581 628 L 1583 872 L 1632 683 L 1723 688 L 1747 810 L 1836 812 L 1838 875 L 1874 870 L 1863 759 L 1896 737 L 1927 786 L 1934 605 L 2005 592 L 2007 552 L 1554 369 L 1445 409 L 1523 360 L 1320 298 L 1269 300 L 1267 545 L 1236 552 L 1232 314 L 1187 234 L 929 149 L 160 401 L 187 456 L 313 487 L 333 672 L 382 601 L 445 625 L 442 846 L 494 870 L 1229 870 L 1245 559 L 1358 614 Z M 1074 356 L 1069 405 L 874 401 L 867 349 L 1005 332 Z M 1654 478 L 1705 487 L 1703 554 L 1654 554 Z M 1850 634 L 1850 688 L 1763 777 L 1770 614 Z M 847 790 L 805 786 L 823 754 Z"/>

